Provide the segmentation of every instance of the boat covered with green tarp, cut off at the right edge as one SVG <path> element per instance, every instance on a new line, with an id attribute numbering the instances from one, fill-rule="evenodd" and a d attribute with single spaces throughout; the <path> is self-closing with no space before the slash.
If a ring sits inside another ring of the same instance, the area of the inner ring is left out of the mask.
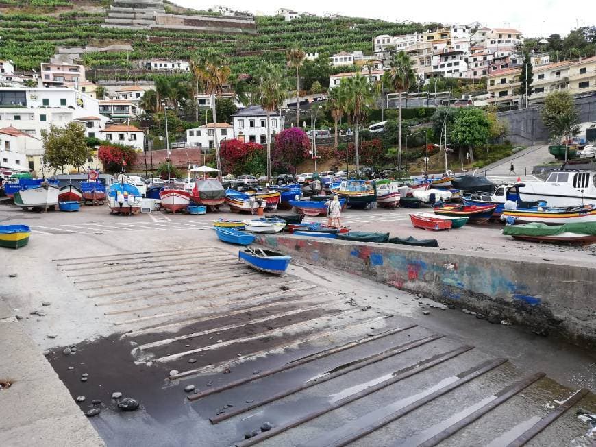
<path id="1" fill-rule="evenodd" d="M 526 241 L 596 243 L 596 222 L 547 225 L 532 222 L 523 225 L 506 225 L 503 234 Z"/>

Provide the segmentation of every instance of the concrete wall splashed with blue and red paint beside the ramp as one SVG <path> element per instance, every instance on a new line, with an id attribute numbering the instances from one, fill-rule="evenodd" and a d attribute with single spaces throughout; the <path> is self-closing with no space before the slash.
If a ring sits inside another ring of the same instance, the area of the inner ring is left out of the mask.
<path id="1" fill-rule="evenodd" d="M 596 268 L 433 248 L 260 234 L 256 243 L 477 311 L 596 342 Z"/>

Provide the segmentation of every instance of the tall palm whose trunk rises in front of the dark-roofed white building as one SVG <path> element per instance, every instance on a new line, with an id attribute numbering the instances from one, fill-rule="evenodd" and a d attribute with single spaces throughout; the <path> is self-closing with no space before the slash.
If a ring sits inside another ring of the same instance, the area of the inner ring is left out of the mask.
<path id="1" fill-rule="evenodd" d="M 255 76 L 253 99 L 264 108 L 267 115 L 267 182 L 271 181 L 271 113 L 280 108 L 288 95 L 286 70 L 273 62 L 261 62 Z"/>

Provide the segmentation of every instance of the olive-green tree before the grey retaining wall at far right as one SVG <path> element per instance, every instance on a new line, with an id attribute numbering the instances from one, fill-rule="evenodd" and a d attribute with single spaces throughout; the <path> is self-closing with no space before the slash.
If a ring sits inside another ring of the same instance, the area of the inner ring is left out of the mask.
<path id="1" fill-rule="evenodd" d="M 580 131 L 578 109 L 575 108 L 573 96 L 569 92 L 559 90 L 549 93 L 541 110 L 541 118 L 551 136 L 558 140 L 564 138 L 569 141 Z"/>

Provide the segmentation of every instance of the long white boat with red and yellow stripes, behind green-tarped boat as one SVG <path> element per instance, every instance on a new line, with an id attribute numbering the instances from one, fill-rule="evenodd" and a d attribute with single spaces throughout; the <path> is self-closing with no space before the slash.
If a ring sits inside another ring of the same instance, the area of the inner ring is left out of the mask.
<path id="1" fill-rule="evenodd" d="M 596 222 L 596 203 L 586 206 L 568 206 L 567 208 L 537 206 L 504 210 L 501 219 L 513 219 L 515 222 L 524 223 L 541 222 L 543 224 Z"/>

